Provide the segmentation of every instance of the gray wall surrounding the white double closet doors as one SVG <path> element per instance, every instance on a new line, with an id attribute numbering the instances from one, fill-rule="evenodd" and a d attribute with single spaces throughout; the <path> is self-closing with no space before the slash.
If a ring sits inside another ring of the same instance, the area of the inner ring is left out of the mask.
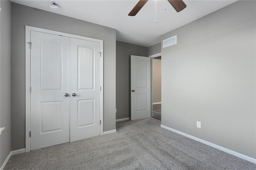
<path id="1" fill-rule="evenodd" d="M 104 41 L 104 131 L 116 128 L 116 30 L 12 3 L 12 150 L 25 148 L 25 26 Z"/>

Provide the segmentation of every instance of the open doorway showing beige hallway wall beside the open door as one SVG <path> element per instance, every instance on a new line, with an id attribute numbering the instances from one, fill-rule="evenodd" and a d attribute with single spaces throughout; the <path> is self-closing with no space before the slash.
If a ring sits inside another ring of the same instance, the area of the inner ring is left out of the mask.
<path id="1" fill-rule="evenodd" d="M 158 119 L 161 121 L 161 53 L 152 58 L 152 118 Z"/>

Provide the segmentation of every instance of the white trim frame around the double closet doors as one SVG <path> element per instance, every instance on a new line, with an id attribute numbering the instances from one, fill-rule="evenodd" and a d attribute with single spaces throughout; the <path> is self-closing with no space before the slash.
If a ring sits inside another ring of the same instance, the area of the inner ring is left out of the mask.
<path id="1" fill-rule="evenodd" d="M 82 40 L 88 40 L 88 41 L 92 41 L 92 42 L 98 42 L 100 43 L 100 51 L 101 51 L 101 57 L 100 57 L 100 86 L 101 86 L 101 91 L 100 91 L 100 120 L 101 120 L 101 124 L 100 124 L 100 135 L 103 135 L 103 125 L 104 125 L 104 120 L 103 120 L 103 40 L 98 40 L 98 39 L 94 39 L 94 38 L 88 38 L 88 37 L 83 37 L 83 36 L 77 36 L 77 35 L 73 35 L 73 34 L 67 34 L 67 33 L 63 33 L 63 32 L 57 32 L 57 31 L 52 31 L 52 30 L 46 30 L 46 29 L 42 29 L 42 28 L 36 28 L 36 27 L 32 27 L 32 26 L 26 26 L 25 29 L 25 34 L 26 34 L 26 38 L 25 38 L 25 56 L 26 56 L 26 134 L 25 134 L 25 150 L 26 152 L 30 152 L 30 136 L 29 136 L 29 132 L 31 130 L 31 126 L 30 126 L 30 108 L 31 108 L 31 103 L 30 103 L 30 33 L 31 31 L 36 31 L 36 32 L 42 32 L 42 33 L 46 33 L 46 34 L 53 34 L 53 35 L 58 35 L 58 36 L 64 36 L 64 37 L 68 37 L 68 38 L 78 38 L 78 39 L 82 39 Z M 33 46 L 33 44 L 31 44 Z"/>

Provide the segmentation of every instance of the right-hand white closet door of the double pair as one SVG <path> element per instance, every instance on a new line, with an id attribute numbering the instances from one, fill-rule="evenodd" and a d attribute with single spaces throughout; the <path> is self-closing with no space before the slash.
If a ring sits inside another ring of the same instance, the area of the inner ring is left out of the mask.
<path id="1" fill-rule="evenodd" d="M 70 38 L 70 141 L 100 135 L 100 43 Z"/>

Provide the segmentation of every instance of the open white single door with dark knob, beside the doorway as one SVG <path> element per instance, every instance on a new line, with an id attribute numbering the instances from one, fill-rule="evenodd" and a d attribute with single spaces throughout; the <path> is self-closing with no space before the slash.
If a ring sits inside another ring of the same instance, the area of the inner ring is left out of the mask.
<path id="1" fill-rule="evenodd" d="M 131 120 L 151 117 L 151 58 L 131 55 Z"/>

